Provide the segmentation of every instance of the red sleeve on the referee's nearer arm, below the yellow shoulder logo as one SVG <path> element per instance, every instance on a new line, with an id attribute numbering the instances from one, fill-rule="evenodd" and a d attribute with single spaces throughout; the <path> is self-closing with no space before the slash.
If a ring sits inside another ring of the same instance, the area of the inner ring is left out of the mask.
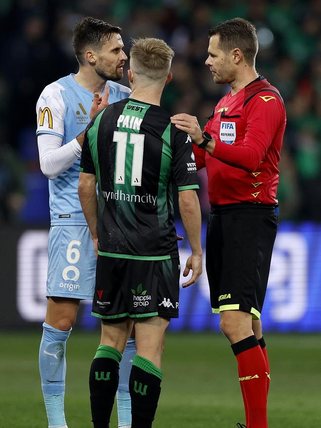
<path id="1" fill-rule="evenodd" d="M 271 96 L 271 92 L 260 92 L 244 107 L 247 122 L 242 145 L 233 146 L 217 140 L 211 156 L 248 172 L 258 169 L 284 120 L 281 100 L 275 96 L 265 101 L 262 96 Z"/>

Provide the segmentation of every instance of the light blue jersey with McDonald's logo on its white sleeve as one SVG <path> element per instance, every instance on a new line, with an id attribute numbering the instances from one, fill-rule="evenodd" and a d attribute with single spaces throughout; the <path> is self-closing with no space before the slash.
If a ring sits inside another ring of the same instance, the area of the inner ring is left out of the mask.
<path id="1" fill-rule="evenodd" d="M 37 103 L 37 135 L 52 134 L 62 145 L 76 138 L 90 122 L 93 94 L 80 86 L 74 74 L 60 78 L 42 91 Z M 128 97 L 129 88 L 108 81 L 109 104 Z M 54 180 L 49 180 L 51 226 L 86 225 L 78 197 L 80 158 Z"/>

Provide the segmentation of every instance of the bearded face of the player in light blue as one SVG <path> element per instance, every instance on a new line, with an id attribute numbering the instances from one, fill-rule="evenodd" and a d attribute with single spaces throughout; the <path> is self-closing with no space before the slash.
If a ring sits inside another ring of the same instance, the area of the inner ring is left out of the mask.
<path id="1" fill-rule="evenodd" d="M 127 56 L 122 50 L 123 43 L 119 34 L 104 43 L 99 51 L 95 71 L 104 80 L 120 80 Z"/>

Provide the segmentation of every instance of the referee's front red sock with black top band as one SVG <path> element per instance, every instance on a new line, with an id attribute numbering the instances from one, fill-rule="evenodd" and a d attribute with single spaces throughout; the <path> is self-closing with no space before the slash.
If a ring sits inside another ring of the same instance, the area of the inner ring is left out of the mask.
<path id="1" fill-rule="evenodd" d="M 246 427 L 268 428 L 267 367 L 258 340 L 249 336 L 231 347 L 239 365 Z"/>

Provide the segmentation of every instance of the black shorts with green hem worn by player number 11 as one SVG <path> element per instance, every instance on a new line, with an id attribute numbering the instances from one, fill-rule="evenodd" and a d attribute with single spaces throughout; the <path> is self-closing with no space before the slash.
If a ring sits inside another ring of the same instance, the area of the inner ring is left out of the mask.
<path id="1" fill-rule="evenodd" d="M 133 260 L 98 255 L 93 316 L 110 322 L 178 317 L 179 258 Z"/>

